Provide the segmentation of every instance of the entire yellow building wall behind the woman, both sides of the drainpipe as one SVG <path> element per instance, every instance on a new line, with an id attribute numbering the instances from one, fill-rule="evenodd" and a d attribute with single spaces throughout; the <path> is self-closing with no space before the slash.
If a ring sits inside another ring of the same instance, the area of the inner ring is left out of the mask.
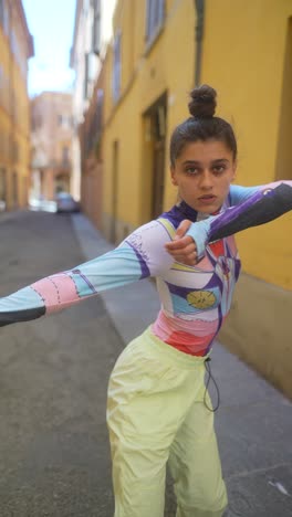
<path id="1" fill-rule="evenodd" d="M 200 83 L 217 89 L 217 114 L 234 128 L 237 182 L 292 179 L 292 0 L 206 0 L 205 8 Z M 171 130 L 188 116 L 188 94 L 195 83 L 195 2 L 166 1 L 164 28 L 149 49 L 145 23 L 145 0 L 118 1 L 114 28 L 122 31 L 122 92 L 116 104 L 111 48 L 105 60 L 104 231 L 111 234 L 115 219 L 117 240 L 149 220 L 150 143 L 143 115 L 167 93 L 168 151 Z M 166 155 L 165 209 L 176 199 L 168 161 Z M 291 223 L 290 212 L 238 235 L 243 274 L 219 336 L 290 397 Z"/>

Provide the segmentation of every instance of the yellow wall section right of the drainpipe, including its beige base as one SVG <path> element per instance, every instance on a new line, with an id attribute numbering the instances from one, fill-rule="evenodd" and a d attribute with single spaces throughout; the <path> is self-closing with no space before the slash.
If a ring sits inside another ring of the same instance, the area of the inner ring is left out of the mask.
<path id="1" fill-rule="evenodd" d="M 233 124 L 240 184 L 292 179 L 292 1 L 206 1 L 201 81 Z M 243 273 L 219 339 L 292 398 L 292 214 L 237 236 Z"/>

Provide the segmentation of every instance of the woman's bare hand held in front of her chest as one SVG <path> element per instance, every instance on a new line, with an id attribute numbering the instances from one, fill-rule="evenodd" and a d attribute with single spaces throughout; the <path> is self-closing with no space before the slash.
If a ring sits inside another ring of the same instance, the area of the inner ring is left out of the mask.
<path id="1" fill-rule="evenodd" d="M 176 262 L 194 266 L 197 264 L 197 246 L 191 236 L 186 235 L 191 221 L 185 219 L 179 224 L 174 241 L 168 242 L 165 247 L 166 251 L 174 257 Z"/>

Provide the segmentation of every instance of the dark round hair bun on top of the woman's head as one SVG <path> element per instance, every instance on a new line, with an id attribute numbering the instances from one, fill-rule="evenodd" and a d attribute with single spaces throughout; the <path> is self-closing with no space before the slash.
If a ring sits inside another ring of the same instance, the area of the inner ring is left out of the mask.
<path id="1" fill-rule="evenodd" d="M 216 91 L 208 84 L 202 84 L 190 92 L 189 113 L 197 118 L 211 118 L 216 110 Z"/>

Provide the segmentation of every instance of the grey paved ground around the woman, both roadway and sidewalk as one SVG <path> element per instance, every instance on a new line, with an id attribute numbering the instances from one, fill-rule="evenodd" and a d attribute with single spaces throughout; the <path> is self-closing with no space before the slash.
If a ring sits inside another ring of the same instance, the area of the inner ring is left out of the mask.
<path id="1" fill-rule="evenodd" d="M 0 235 L 1 296 L 111 249 L 82 214 L 3 214 Z M 157 306 L 144 281 L 1 328 L 0 517 L 113 517 L 107 379 Z M 212 371 L 228 517 L 291 517 L 291 403 L 219 344 Z"/>

